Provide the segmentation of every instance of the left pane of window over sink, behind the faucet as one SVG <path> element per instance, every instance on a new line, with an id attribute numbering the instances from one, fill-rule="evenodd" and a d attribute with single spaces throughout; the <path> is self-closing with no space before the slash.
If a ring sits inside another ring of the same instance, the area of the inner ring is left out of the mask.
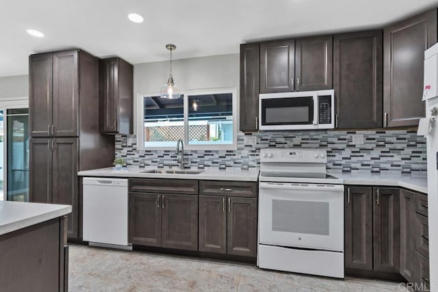
<path id="1" fill-rule="evenodd" d="M 145 96 L 144 146 L 175 146 L 184 140 L 183 96 L 177 99 Z"/>

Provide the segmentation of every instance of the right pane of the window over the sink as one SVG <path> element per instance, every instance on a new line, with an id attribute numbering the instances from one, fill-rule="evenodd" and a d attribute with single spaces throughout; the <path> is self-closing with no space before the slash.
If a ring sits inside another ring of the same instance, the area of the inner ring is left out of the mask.
<path id="1" fill-rule="evenodd" d="M 233 144 L 233 94 L 188 96 L 188 143 Z"/>

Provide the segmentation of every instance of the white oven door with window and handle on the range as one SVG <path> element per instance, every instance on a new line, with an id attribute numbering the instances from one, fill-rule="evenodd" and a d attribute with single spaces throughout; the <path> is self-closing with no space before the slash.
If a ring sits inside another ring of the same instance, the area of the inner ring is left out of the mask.
<path id="1" fill-rule="evenodd" d="M 344 185 L 261 182 L 259 243 L 344 251 Z"/>

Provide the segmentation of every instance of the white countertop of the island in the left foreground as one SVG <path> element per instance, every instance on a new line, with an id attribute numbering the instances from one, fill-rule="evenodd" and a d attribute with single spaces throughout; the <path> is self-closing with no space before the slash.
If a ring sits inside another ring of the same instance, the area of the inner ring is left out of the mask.
<path id="1" fill-rule="evenodd" d="M 71 213 L 71 206 L 0 201 L 0 235 Z"/>

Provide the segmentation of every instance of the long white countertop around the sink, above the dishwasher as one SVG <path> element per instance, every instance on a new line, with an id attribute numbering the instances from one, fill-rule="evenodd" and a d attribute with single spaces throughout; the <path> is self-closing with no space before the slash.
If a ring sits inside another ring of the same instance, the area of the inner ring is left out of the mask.
<path id="1" fill-rule="evenodd" d="M 183 178 L 183 179 L 198 179 L 207 181 L 258 181 L 259 169 L 241 170 L 240 168 L 229 168 L 220 170 L 218 168 L 209 168 L 202 171 L 200 174 L 153 174 L 144 173 L 149 170 L 157 169 L 156 166 L 146 168 L 129 167 L 126 171 L 114 171 L 113 168 L 101 168 L 97 170 L 85 170 L 78 172 L 78 176 L 96 176 L 96 177 L 126 177 L 126 178 Z M 164 170 L 160 168 L 160 170 Z M 172 170 L 178 170 L 173 168 Z"/>

